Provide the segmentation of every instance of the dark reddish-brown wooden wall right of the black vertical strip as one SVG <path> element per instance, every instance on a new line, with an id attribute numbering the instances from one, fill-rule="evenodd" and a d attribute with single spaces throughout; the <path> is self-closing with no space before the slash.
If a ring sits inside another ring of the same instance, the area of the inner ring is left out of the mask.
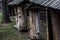
<path id="1" fill-rule="evenodd" d="M 60 13 L 55 10 L 51 12 L 54 40 L 60 40 Z"/>

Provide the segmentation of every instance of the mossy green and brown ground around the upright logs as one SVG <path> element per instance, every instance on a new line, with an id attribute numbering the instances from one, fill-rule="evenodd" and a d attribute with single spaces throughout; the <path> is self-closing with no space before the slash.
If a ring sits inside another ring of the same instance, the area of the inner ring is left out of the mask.
<path id="1" fill-rule="evenodd" d="M 0 40 L 27 40 L 28 33 L 20 33 L 15 25 L 15 18 L 10 17 L 11 23 L 2 24 L 2 13 L 0 12 Z M 40 40 L 47 40 L 46 26 L 40 26 Z"/>

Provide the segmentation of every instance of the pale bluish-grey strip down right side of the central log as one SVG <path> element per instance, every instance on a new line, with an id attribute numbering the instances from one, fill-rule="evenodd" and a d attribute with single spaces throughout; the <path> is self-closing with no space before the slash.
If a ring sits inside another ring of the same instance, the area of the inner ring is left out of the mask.
<path id="1" fill-rule="evenodd" d="M 39 39 L 40 34 L 40 25 L 39 25 L 39 18 L 38 18 L 38 11 L 35 11 L 35 30 L 36 30 L 36 38 Z"/>

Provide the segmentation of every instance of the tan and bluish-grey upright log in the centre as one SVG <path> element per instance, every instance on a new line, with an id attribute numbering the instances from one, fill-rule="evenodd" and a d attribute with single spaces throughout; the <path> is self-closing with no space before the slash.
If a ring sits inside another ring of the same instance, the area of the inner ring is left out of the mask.
<path id="1" fill-rule="evenodd" d="M 29 11 L 30 15 L 30 38 L 31 39 L 39 39 L 39 23 L 38 23 L 38 15 L 37 11 Z"/>

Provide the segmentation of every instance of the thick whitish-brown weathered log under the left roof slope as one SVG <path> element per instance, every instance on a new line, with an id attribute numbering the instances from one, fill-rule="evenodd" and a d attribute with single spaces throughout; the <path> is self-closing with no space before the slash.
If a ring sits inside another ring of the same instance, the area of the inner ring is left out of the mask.
<path id="1" fill-rule="evenodd" d="M 27 14 L 24 13 L 24 10 L 22 9 L 21 6 L 17 6 L 17 12 L 15 10 L 15 13 L 17 14 L 15 16 L 16 17 L 16 28 L 18 28 L 18 30 L 27 30 L 27 26 L 28 26 Z"/>

